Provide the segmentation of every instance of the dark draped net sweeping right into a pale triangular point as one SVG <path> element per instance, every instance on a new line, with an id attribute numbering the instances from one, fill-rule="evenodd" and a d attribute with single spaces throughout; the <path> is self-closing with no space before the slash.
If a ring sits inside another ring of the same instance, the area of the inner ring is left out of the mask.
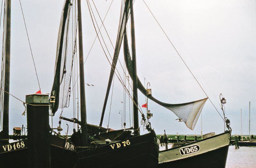
<path id="1" fill-rule="evenodd" d="M 128 72 L 132 77 L 132 59 L 129 52 L 126 30 L 124 31 L 124 60 L 125 60 L 125 64 L 128 69 Z M 141 91 L 142 94 L 146 96 L 147 90 L 142 85 L 138 76 L 137 76 L 137 81 L 138 81 L 139 90 Z M 162 101 L 157 100 L 152 95 L 148 96 L 148 98 L 151 99 L 152 101 L 155 101 L 157 104 L 171 110 L 175 115 L 179 117 L 179 119 L 185 122 L 186 126 L 189 129 L 192 129 L 192 130 L 195 128 L 198 117 L 202 111 L 202 108 L 204 107 L 204 103 L 208 99 L 208 98 L 205 98 L 198 101 L 192 101 L 192 102 L 181 103 L 181 104 L 169 104 L 169 103 L 164 103 Z"/>

